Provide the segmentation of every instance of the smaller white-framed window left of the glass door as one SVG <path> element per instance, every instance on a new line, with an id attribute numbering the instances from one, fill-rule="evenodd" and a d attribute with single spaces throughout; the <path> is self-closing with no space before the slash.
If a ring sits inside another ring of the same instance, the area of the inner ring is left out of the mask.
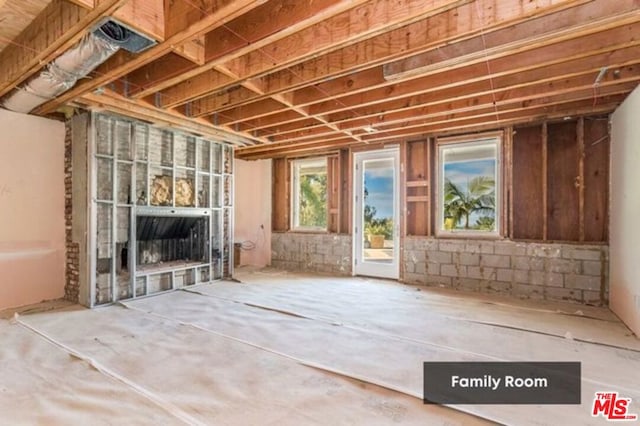
<path id="1" fill-rule="evenodd" d="M 327 229 L 327 159 L 292 163 L 292 224 L 295 230 Z"/>

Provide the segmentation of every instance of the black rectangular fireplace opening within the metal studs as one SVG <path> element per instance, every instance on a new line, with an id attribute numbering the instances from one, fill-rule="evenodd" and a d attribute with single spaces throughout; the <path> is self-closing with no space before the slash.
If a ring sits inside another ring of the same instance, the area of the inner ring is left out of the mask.
<path id="1" fill-rule="evenodd" d="M 209 262 L 208 216 L 137 216 L 139 272 Z"/>

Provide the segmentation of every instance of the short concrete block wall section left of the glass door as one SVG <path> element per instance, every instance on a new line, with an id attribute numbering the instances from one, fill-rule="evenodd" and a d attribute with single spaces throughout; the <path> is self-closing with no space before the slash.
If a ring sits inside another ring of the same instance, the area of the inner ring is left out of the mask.
<path id="1" fill-rule="evenodd" d="M 351 274 L 351 236 L 299 232 L 271 235 L 271 266 L 288 271 Z"/>

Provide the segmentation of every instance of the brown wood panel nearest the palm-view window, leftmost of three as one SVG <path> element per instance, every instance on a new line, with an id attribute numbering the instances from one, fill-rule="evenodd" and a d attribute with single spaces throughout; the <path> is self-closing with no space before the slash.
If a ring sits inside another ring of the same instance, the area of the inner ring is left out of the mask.
<path id="1" fill-rule="evenodd" d="M 543 239 L 542 126 L 513 135 L 513 237 Z"/>

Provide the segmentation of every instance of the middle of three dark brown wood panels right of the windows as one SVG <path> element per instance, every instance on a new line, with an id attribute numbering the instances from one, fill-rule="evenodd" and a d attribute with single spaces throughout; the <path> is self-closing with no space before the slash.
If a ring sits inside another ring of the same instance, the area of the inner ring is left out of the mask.
<path id="1" fill-rule="evenodd" d="M 548 239 L 579 240 L 579 170 L 576 122 L 548 125 Z"/>

